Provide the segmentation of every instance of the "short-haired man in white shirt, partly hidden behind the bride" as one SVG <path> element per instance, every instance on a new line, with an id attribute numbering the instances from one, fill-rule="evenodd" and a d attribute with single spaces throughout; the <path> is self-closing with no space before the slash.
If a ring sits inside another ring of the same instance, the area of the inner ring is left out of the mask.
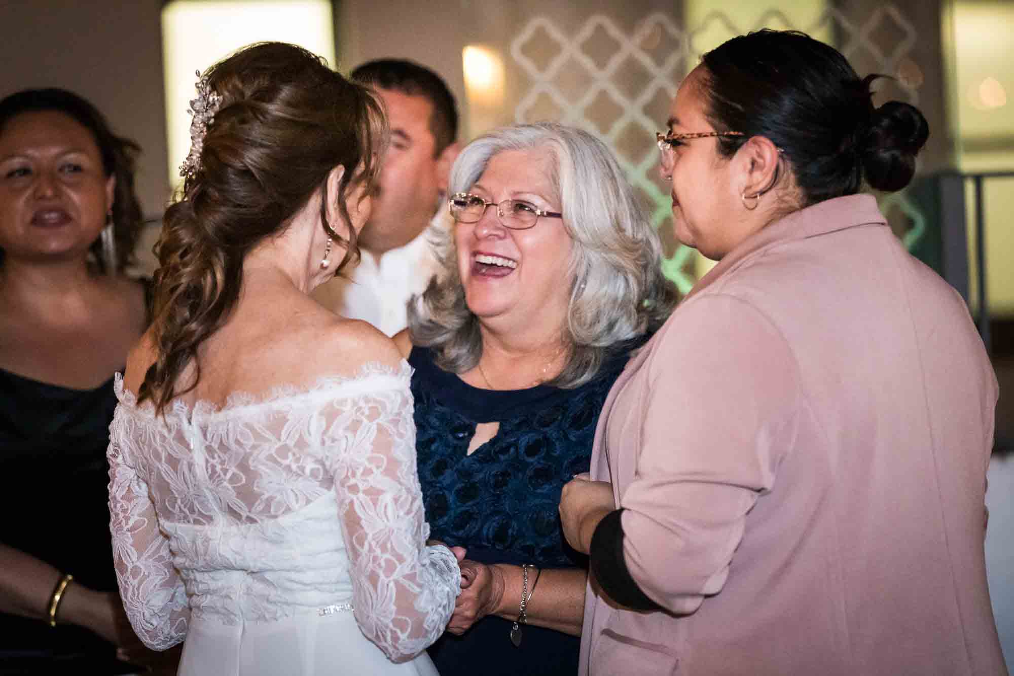
<path id="1" fill-rule="evenodd" d="M 422 293 L 439 272 L 432 241 L 436 228 L 452 222 L 444 195 L 459 150 L 457 110 L 440 76 L 411 61 L 369 61 L 351 77 L 374 87 L 383 99 L 390 144 L 373 213 L 359 234 L 362 260 L 318 286 L 313 297 L 392 336 L 408 324 L 409 298 Z"/>

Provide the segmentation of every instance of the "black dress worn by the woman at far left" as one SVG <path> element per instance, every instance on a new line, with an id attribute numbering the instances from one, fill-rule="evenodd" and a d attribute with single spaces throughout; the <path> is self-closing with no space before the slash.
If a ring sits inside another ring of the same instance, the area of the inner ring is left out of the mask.
<path id="1" fill-rule="evenodd" d="M 103 592 L 117 591 L 105 463 L 116 405 L 112 378 L 72 390 L 0 369 L 0 542 Z M 87 629 L 0 614 L 0 671 L 32 655 L 115 653 Z"/>

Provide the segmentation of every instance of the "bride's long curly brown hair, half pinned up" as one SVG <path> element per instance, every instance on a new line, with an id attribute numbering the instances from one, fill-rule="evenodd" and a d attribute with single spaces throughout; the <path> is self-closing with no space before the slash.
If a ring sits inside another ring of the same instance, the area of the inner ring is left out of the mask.
<path id="1" fill-rule="evenodd" d="M 361 183 L 369 192 L 386 136 L 380 104 L 368 89 L 294 45 L 251 45 L 205 77 L 221 104 L 197 172 L 166 209 L 155 246 L 156 357 L 138 400 L 150 397 L 159 412 L 197 386 L 198 347 L 235 308 L 246 255 L 283 231 L 317 191 L 320 224 L 345 249 L 338 269 L 358 257 L 346 200 Z M 338 195 L 329 196 L 328 176 L 339 164 L 346 172 Z M 337 206 L 347 238 L 329 224 L 329 203 Z M 193 376 L 180 384 L 192 362 Z"/>

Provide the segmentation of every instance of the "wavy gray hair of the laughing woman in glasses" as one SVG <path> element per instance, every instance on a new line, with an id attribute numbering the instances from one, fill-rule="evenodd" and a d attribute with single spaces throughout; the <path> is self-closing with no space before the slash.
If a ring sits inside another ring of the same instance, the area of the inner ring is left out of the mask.
<path id="1" fill-rule="evenodd" d="M 661 271 L 658 233 L 612 153 L 587 132 L 556 123 L 495 129 L 458 155 L 448 194 L 470 190 L 495 155 L 536 148 L 548 149 L 553 158 L 549 178 L 574 243 L 564 323 L 570 357 L 547 384 L 576 388 L 594 378 L 625 343 L 660 326 L 677 295 Z M 442 233 L 436 245 L 443 274 L 410 301 L 409 333 L 413 344 L 433 350 L 438 366 L 462 374 L 483 353 L 480 321 L 465 303 L 453 231 Z"/>

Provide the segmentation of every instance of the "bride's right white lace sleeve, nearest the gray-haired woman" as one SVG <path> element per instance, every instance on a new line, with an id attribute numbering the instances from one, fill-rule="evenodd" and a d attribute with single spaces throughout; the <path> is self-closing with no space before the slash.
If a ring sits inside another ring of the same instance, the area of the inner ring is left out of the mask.
<path id="1" fill-rule="evenodd" d="M 351 442 L 334 462 L 354 613 L 366 637 L 402 662 L 443 633 L 460 570 L 449 549 L 426 546 L 412 395 L 361 397 L 350 420 Z"/>

